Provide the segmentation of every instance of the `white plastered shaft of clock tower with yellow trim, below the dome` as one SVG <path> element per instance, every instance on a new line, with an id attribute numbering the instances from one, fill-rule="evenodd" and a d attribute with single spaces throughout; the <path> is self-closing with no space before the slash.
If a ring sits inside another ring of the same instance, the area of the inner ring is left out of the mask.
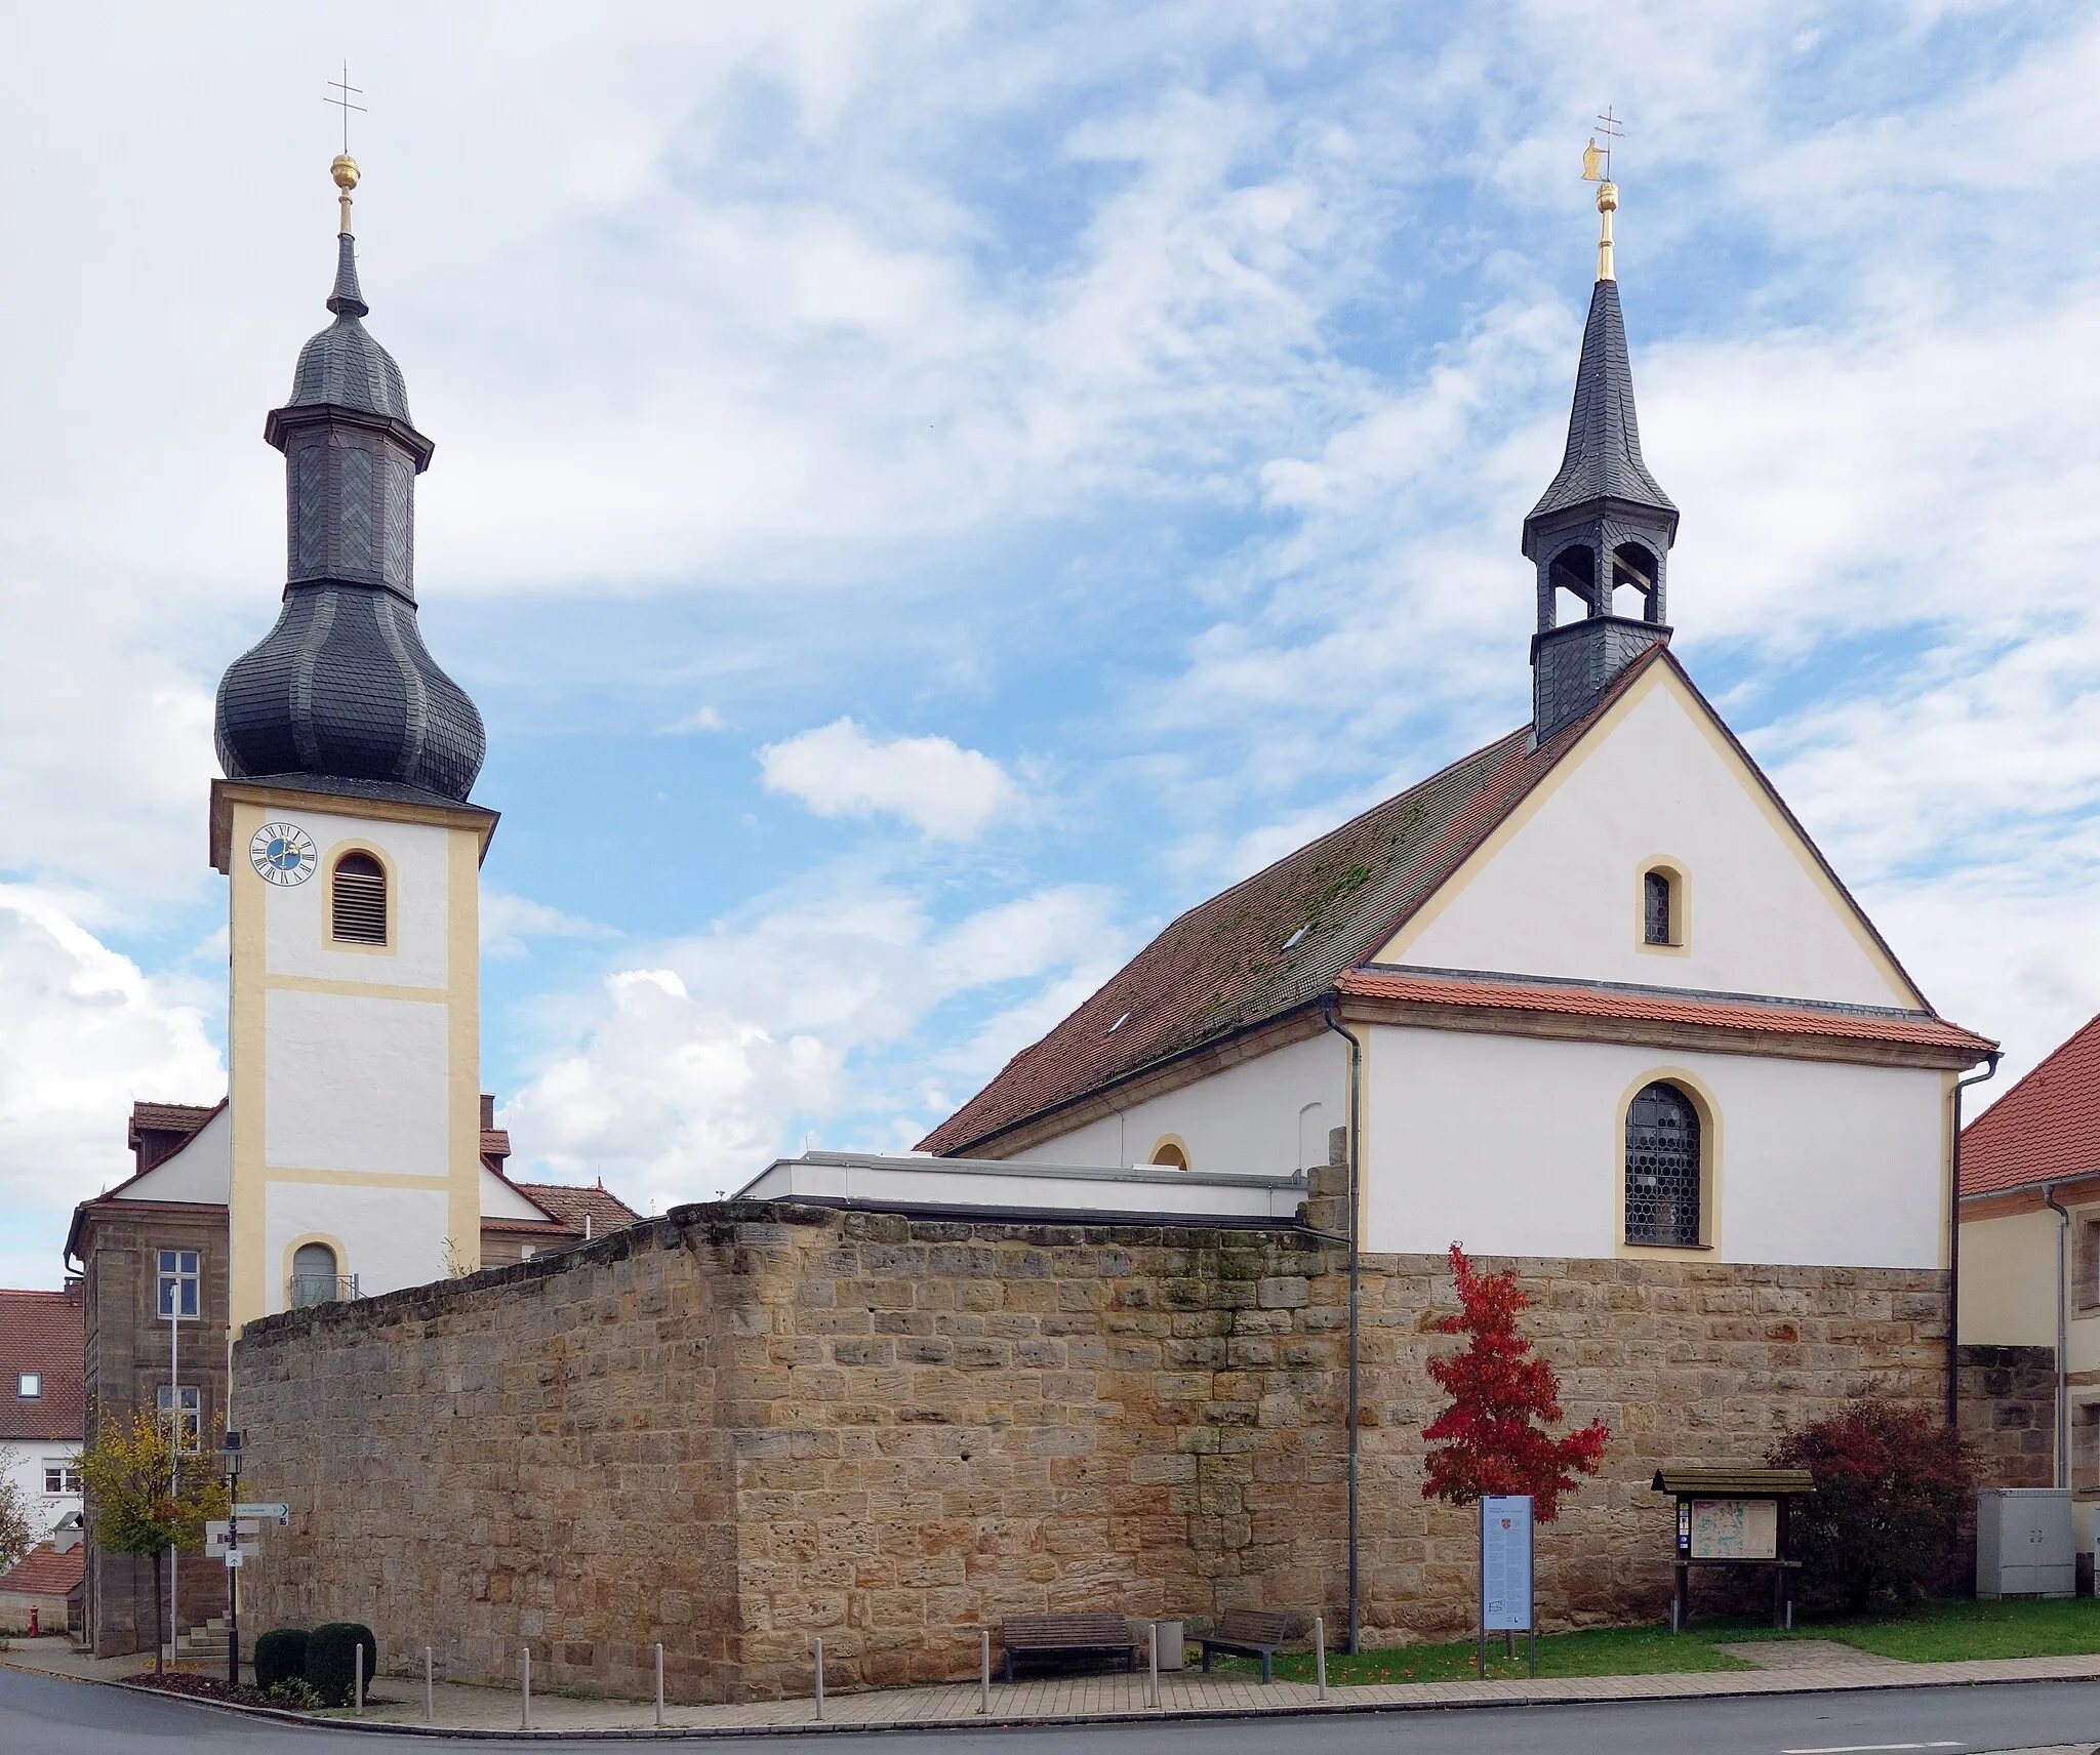
<path id="1" fill-rule="evenodd" d="M 315 844 L 269 884 L 265 823 Z M 288 1306 L 292 1255 L 326 1243 L 363 1295 L 481 1266 L 481 854 L 489 812 L 220 781 L 214 857 L 231 919 L 231 1318 Z M 220 840 L 223 836 L 223 840 Z M 386 873 L 384 945 L 330 938 L 346 852 Z"/>

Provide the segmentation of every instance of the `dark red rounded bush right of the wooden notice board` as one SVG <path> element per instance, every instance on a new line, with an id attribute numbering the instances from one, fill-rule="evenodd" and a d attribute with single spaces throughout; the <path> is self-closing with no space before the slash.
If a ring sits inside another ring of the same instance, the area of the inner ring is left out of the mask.
<path id="1" fill-rule="evenodd" d="M 1926 1409 L 1882 1400 L 1789 1434 L 1772 1467 L 1816 1478 L 1791 1511 L 1804 1595 L 1854 1614 L 1940 1583 L 1976 1499 L 1961 1436 Z"/>

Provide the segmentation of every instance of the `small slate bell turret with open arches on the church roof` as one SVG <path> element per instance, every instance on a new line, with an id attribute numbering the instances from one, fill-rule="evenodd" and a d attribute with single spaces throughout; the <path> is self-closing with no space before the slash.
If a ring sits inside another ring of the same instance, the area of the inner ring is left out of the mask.
<path id="1" fill-rule="evenodd" d="M 1594 153 L 1592 143 L 1592 160 Z M 1617 208 L 1619 185 L 1604 176 L 1596 191 L 1596 288 L 1575 367 L 1569 445 L 1560 472 L 1525 519 L 1525 558 L 1539 569 L 1539 632 L 1531 640 L 1531 724 L 1539 743 L 1581 718 L 1621 670 L 1670 638 L 1663 573 L 1678 537 L 1678 508 L 1640 458 L 1634 369 L 1613 269 Z M 1613 592 L 1625 586 L 1640 594 L 1638 617 L 1613 609 Z M 1554 626 L 1560 592 L 1583 611 L 1564 628 Z"/>

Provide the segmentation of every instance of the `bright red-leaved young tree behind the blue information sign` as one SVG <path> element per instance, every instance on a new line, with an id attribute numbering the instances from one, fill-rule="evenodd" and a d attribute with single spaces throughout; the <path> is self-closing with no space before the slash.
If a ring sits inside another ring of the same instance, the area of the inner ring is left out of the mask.
<path id="1" fill-rule="evenodd" d="M 1516 1274 L 1478 1272 L 1455 1243 L 1451 1272 L 1460 1314 L 1436 1327 L 1470 1341 L 1430 1360 L 1430 1377 L 1451 1407 L 1422 1430 L 1432 1446 L 1422 1497 L 1472 1505 L 1483 1495 L 1529 1493 L 1533 1518 L 1550 1524 L 1560 1516 L 1560 1495 L 1575 1490 L 1575 1476 L 1598 1472 L 1611 1428 L 1592 1419 L 1554 1438 L 1548 1428 L 1564 1419 L 1560 1379 L 1516 1331 L 1516 1312 L 1531 1308 Z"/>

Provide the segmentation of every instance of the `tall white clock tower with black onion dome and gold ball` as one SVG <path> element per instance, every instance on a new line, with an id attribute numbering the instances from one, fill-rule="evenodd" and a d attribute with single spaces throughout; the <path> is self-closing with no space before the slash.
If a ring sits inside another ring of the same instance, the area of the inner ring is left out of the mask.
<path id="1" fill-rule="evenodd" d="M 277 626 L 218 684 L 229 880 L 231 1320 L 481 1262 L 481 714 L 416 626 L 430 441 L 363 325 L 351 189 L 334 321 L 262 437 L 284 451 Z"/>

